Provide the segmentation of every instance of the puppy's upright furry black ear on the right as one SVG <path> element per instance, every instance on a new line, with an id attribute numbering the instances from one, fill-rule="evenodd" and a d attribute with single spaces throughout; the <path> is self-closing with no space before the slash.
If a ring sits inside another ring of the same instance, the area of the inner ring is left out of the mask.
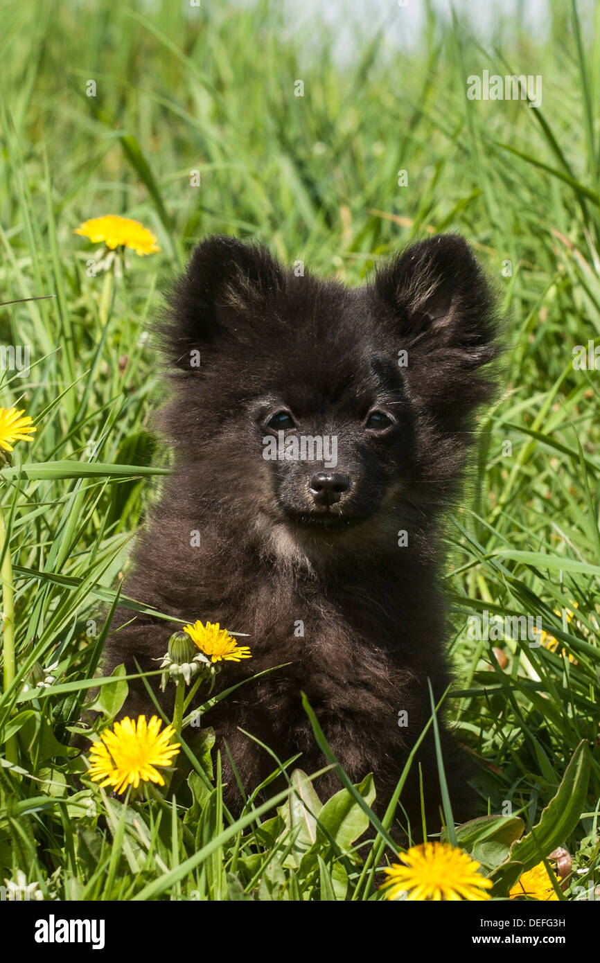
<path id="1" fill-rule="evenodd" d="M 493 393 L 478 369 L 498 353 L 495 298 L 466 242 L 440 234 L 409 247 L 378 270 L 401 367 L 415 400 L 451 427 Z"/>

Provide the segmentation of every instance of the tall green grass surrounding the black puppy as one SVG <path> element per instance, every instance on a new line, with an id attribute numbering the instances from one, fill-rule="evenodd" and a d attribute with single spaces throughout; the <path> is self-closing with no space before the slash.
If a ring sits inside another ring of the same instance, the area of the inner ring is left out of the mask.
<path id="1" fill-rule="evenodd" d="M 22 871 L 60 899 L 377 898 L 391 813 L 361 843 L 368 778 L 321 809 L 297 775 L 278 816 L 250 801 L 236 823 L 206 735 L 184 730 L 192 775 L 150 805 L 91 787 L 66 743 L 108 631 L 100 603 L 115 600 L 168 463 L 148 428 L 162 397 L 144 332 L 189 247 L 235 233 L 359 283 L 376 256 L 456 230 L 509 321 L 502 397 L 448 526 L 449 706 L 477 754 L 481 814 L 523 821 L 446 832 L 496 867 L 499 896 L 515 866 L 567 846 L 578 872 L 561 898 L 577 898 L 600 882 L 600 375 L 572 365 L 574 346 L 600 344 L 600 11 L 594 23 L 556 2 L 545 39 L 499 22 L 484 45 L 430 13 L 414 50 L 395 52 L 383 31 L 340 66 L 325 27 L 297 36 L 276 4 L 206 0 L 187 19 L 176 4 L 134 6 L 7 0 L 0 12 L 0 300 L 55 296 L 0 309 L 0 343 L 29 345 L 32 364 L 3 373 L 0 403 L 38 425 L 0 472 L 16 651 L 0 697 L 0 882 Z M 541 109 L 467 100 L 483 69 L 541 74 Z M 96 247 L 73 229 L 107 213 L 143 221 L 161 253 L 88 276 Z M 471 639 L 484 609 L 540 616 L 560 644 Z M 51 688 L 32 690 L 36 664 L 55 663 Z M 106 724 L 124 684 L 101 691 Z"/>

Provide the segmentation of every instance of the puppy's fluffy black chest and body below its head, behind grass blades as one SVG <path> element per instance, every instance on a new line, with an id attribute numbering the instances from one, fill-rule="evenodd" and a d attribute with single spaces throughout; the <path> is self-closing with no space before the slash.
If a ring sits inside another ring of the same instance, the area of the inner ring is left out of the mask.
<path id="1" fill-rule="evenodd" d="M 247 789 L 276 768 L 273 756 L 253 740 L 269 746 L 282 762 L 301 754 L 296 765 L 309 772 L 323 768 L 302 693 L 351 778 L 373 771 L 380 792 L 393 786 L 409 746 L 430 718 L 428 679 L 436 698 L 448 685 L 432 567 L 407 559 L 402 569 L 377 569 L 355 560 L 341 569 L 309 573 L 287 560 L 261 559 L 248 546 L 245 551 L 238 545 L 232 555 L 223 551 L 222 541 L 211 544 L 207 534 L 196 565 L 175 561 L 170 572 L 173 557 L 161 553 L 160 537 L 176 535 L 165 526 L 161 535 L 155 529 L 145 535 L 128 593 L 174 617 L 193 621 L 201 612 L 204 621 L 247 634 L 237 638 L 248 644 L 251 659 L 222 663 L 215 691 L 244 684 L 201 718 L 203 726 L 214 727 L 220 748 L 227 744 Z M 154 660 L 166 652 L 172 630 L 173 623 L 140 616 L 113 636 L 106 668 L 124 662 L 135 671 L 135 660 L 144 670 L 156 669 Z M 203 698 L 200 693 L 196 705 Z M 160 700 L 169 711 L 171 684 Z M 138 684 L 125 708 L 130 714 L 147 711 L 147 696 Z M 223 757 L 227 768 L 224 752 Z M 229 779 L 231 794 L 231 773 Z M 330 775 L 320 785 L 323 794 L 336 788 Z"/>

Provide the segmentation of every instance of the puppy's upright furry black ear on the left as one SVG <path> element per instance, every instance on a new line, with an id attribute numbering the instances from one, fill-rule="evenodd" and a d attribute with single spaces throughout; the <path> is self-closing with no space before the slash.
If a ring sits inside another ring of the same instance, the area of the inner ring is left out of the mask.
<path id="1" fill-rule="evenodd" d="M 189 351 L 223 334 L 243 339 L 252 318 L 284 283 L 285 271 L 266 247 L 222 234 L 202 241 L 168 296 L 164 329 L 170 354 L 174 349 L 187 367 Z"/>

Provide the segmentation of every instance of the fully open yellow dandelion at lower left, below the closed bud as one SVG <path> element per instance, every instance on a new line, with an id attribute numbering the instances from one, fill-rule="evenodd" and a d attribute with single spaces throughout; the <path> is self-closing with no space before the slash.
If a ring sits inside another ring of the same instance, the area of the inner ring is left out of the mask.
<path id="1" fill-rule="evenodd" d="M 111 786 L 119 794 L 127 786 L 137 789 L 140 782 L 164 786 L 165 780 L 156 767 L 170 766 L 181 743 L 170 742 L 175 735 L 171 725 L 162 732 L 160 728 L 158 716 L 152 716 L 147 724 L 145 716 L 138 716 L 137 721 L 125 717 L 112 729 L 105 729 L 90 749 L 92 782 Z"/>

